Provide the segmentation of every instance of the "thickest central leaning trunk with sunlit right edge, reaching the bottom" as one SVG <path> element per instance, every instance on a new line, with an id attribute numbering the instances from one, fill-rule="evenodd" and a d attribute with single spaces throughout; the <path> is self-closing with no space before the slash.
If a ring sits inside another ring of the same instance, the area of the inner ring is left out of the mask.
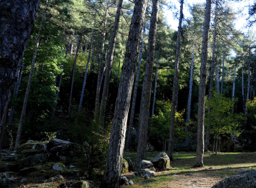
<path id="1" fill-rule="evenodd" d="M 114 118 L 108 147 L 107 162 L 100 188 L 119 188 L 122 170 L 122 156 L 126 123 L 132 94 L 132 83 L 138 57 L 138 46 L 145 17 L 147 0 L 135 1 L 134 13 L 130 24 L 130 32 L 126 45 L 124 64 L 118 88 L 118 96 L 114 109 Z"/>

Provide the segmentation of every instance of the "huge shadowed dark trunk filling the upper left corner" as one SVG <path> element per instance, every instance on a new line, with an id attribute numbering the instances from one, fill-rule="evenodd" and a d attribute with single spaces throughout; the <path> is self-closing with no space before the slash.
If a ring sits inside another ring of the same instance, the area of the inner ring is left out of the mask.
<path id="1" fill-rule="evenodd" d="M 40 0 L 0 2 L 0 127 L 17 81 Z"/>

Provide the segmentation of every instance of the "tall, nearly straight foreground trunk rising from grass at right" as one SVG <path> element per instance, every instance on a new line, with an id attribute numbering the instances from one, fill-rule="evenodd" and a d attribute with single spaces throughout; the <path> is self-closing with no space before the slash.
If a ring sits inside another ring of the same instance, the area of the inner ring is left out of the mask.
<path id="1" fill-rule="evenodd" d="M 204 114 L 205 114 L 205 87 L 207 80 L 207 53 L 208 53 L 208 34 L 211 19 L 211 0 L 206 1 L 204 35 L 202 44 L 202 58 L 200 67 L 199 84 L 199 104 L 197 118 L 197 148 L 196 148 L 196 167 L 204 166 Z"/>

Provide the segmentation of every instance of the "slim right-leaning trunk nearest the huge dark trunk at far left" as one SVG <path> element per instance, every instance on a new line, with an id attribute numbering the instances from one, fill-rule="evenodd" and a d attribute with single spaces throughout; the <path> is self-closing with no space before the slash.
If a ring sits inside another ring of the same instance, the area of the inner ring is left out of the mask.
<path id="1" fill-rule="evenodd" d="M 16 137 L 16 141 L 15 141 L 14 150 L 17 150 L 17 148 L 19 147 L 19 142 L 21 140 L 22 126 L 23 126 L 24 120 L 25 120 L 26 109 L 27 109 L 27 101 L 29 99 L 29 91 L 30 91 L 30 86 L 31 86 L 31 82 L 32 82 L 32 76 L 33 76 L 33 70 L 34 70 L 34 66 L 35 66 L 35 60 L 37 58 L 37 50 L 38 50 L 38 45 L 39 45 L 39 42 L 40 42 L 40 36 L 41 36 L 41 32 L 42 32 L 42 26 L 43 26 L 43 22 L 44 22 L 44 17 L 45 17 L 45 11 L 46 11 L 46 7 L 47 7 L 47 3 L 48 3 L 48 0 L 46 0 L 46 5 L 45 5 L 45 8 L 43 10 L 43 14 L 42 14 L 42 18 L 41 18 L 41 23 L 40 23 L 40 27 L 39 27 L 39 31 L 38 31 L 38 35 L 37 35 L 37 42 L 35 44 L 34 54 L 33 54 L 32 62 L 31 62 L 31 68 L 30 68 L 30 73 L 29 73 L 29 80 L 27 82 L 27 89 L 26 89 L 26 93 L 25 93 L 25 98 L 24 98 L 23 106 L 22 106 L 21 118 L 19 120 L 19 127 L 18 127 L 18 131 L 17 131 L 17 137 Z"/>

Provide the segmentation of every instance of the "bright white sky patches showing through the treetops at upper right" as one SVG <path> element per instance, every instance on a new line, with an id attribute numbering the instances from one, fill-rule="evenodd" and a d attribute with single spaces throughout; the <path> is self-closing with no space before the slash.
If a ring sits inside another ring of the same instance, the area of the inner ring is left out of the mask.
<path id="1" fill-rule="evenodd" d="M 176 9 L 174 11 L 179 11 L 180 9 L 180 0 L 172 0 L 172 2 L 176 5 Z M 189 5 L 192 5 L 194 3 L 204 3 L 206 0 L 184 0 L 183 4 L 183 14 L 184 18 L 188 18 L 191 15 L 189 14 Z M 247 6 L 250 4 L 253 4 L 253 0 L 242 0 L 240 2 L 230 2 L 231 7 L 234 8 L 234 10 L 238 10 L 239 8 L 242 8 L 242 13 L 237 15 L 237 21 L 235 22 L 235 28 L 237 30 L 241 30 L 242 32 L 246 32 L 248 28 L 244 28 L 246 26 L 246 17 L 248 16 L 248 8 Z M 229 3 L 229 4 L 230 4 Z M 212 5 L 215 6 L 215 5 Z M 173 10 L 168 10 L 165 8 L 164 15 L 167 18 L 167 22 L 171 27 L 175 30 L 178 29 L 178 19 L 173 18 Z M 179 16 L 179 15 L 178 15 Z M 184 20 L 183 20 L 184 22 Z M 256 27 L 253 27 L 253 30 L 256 31 Z"/>

